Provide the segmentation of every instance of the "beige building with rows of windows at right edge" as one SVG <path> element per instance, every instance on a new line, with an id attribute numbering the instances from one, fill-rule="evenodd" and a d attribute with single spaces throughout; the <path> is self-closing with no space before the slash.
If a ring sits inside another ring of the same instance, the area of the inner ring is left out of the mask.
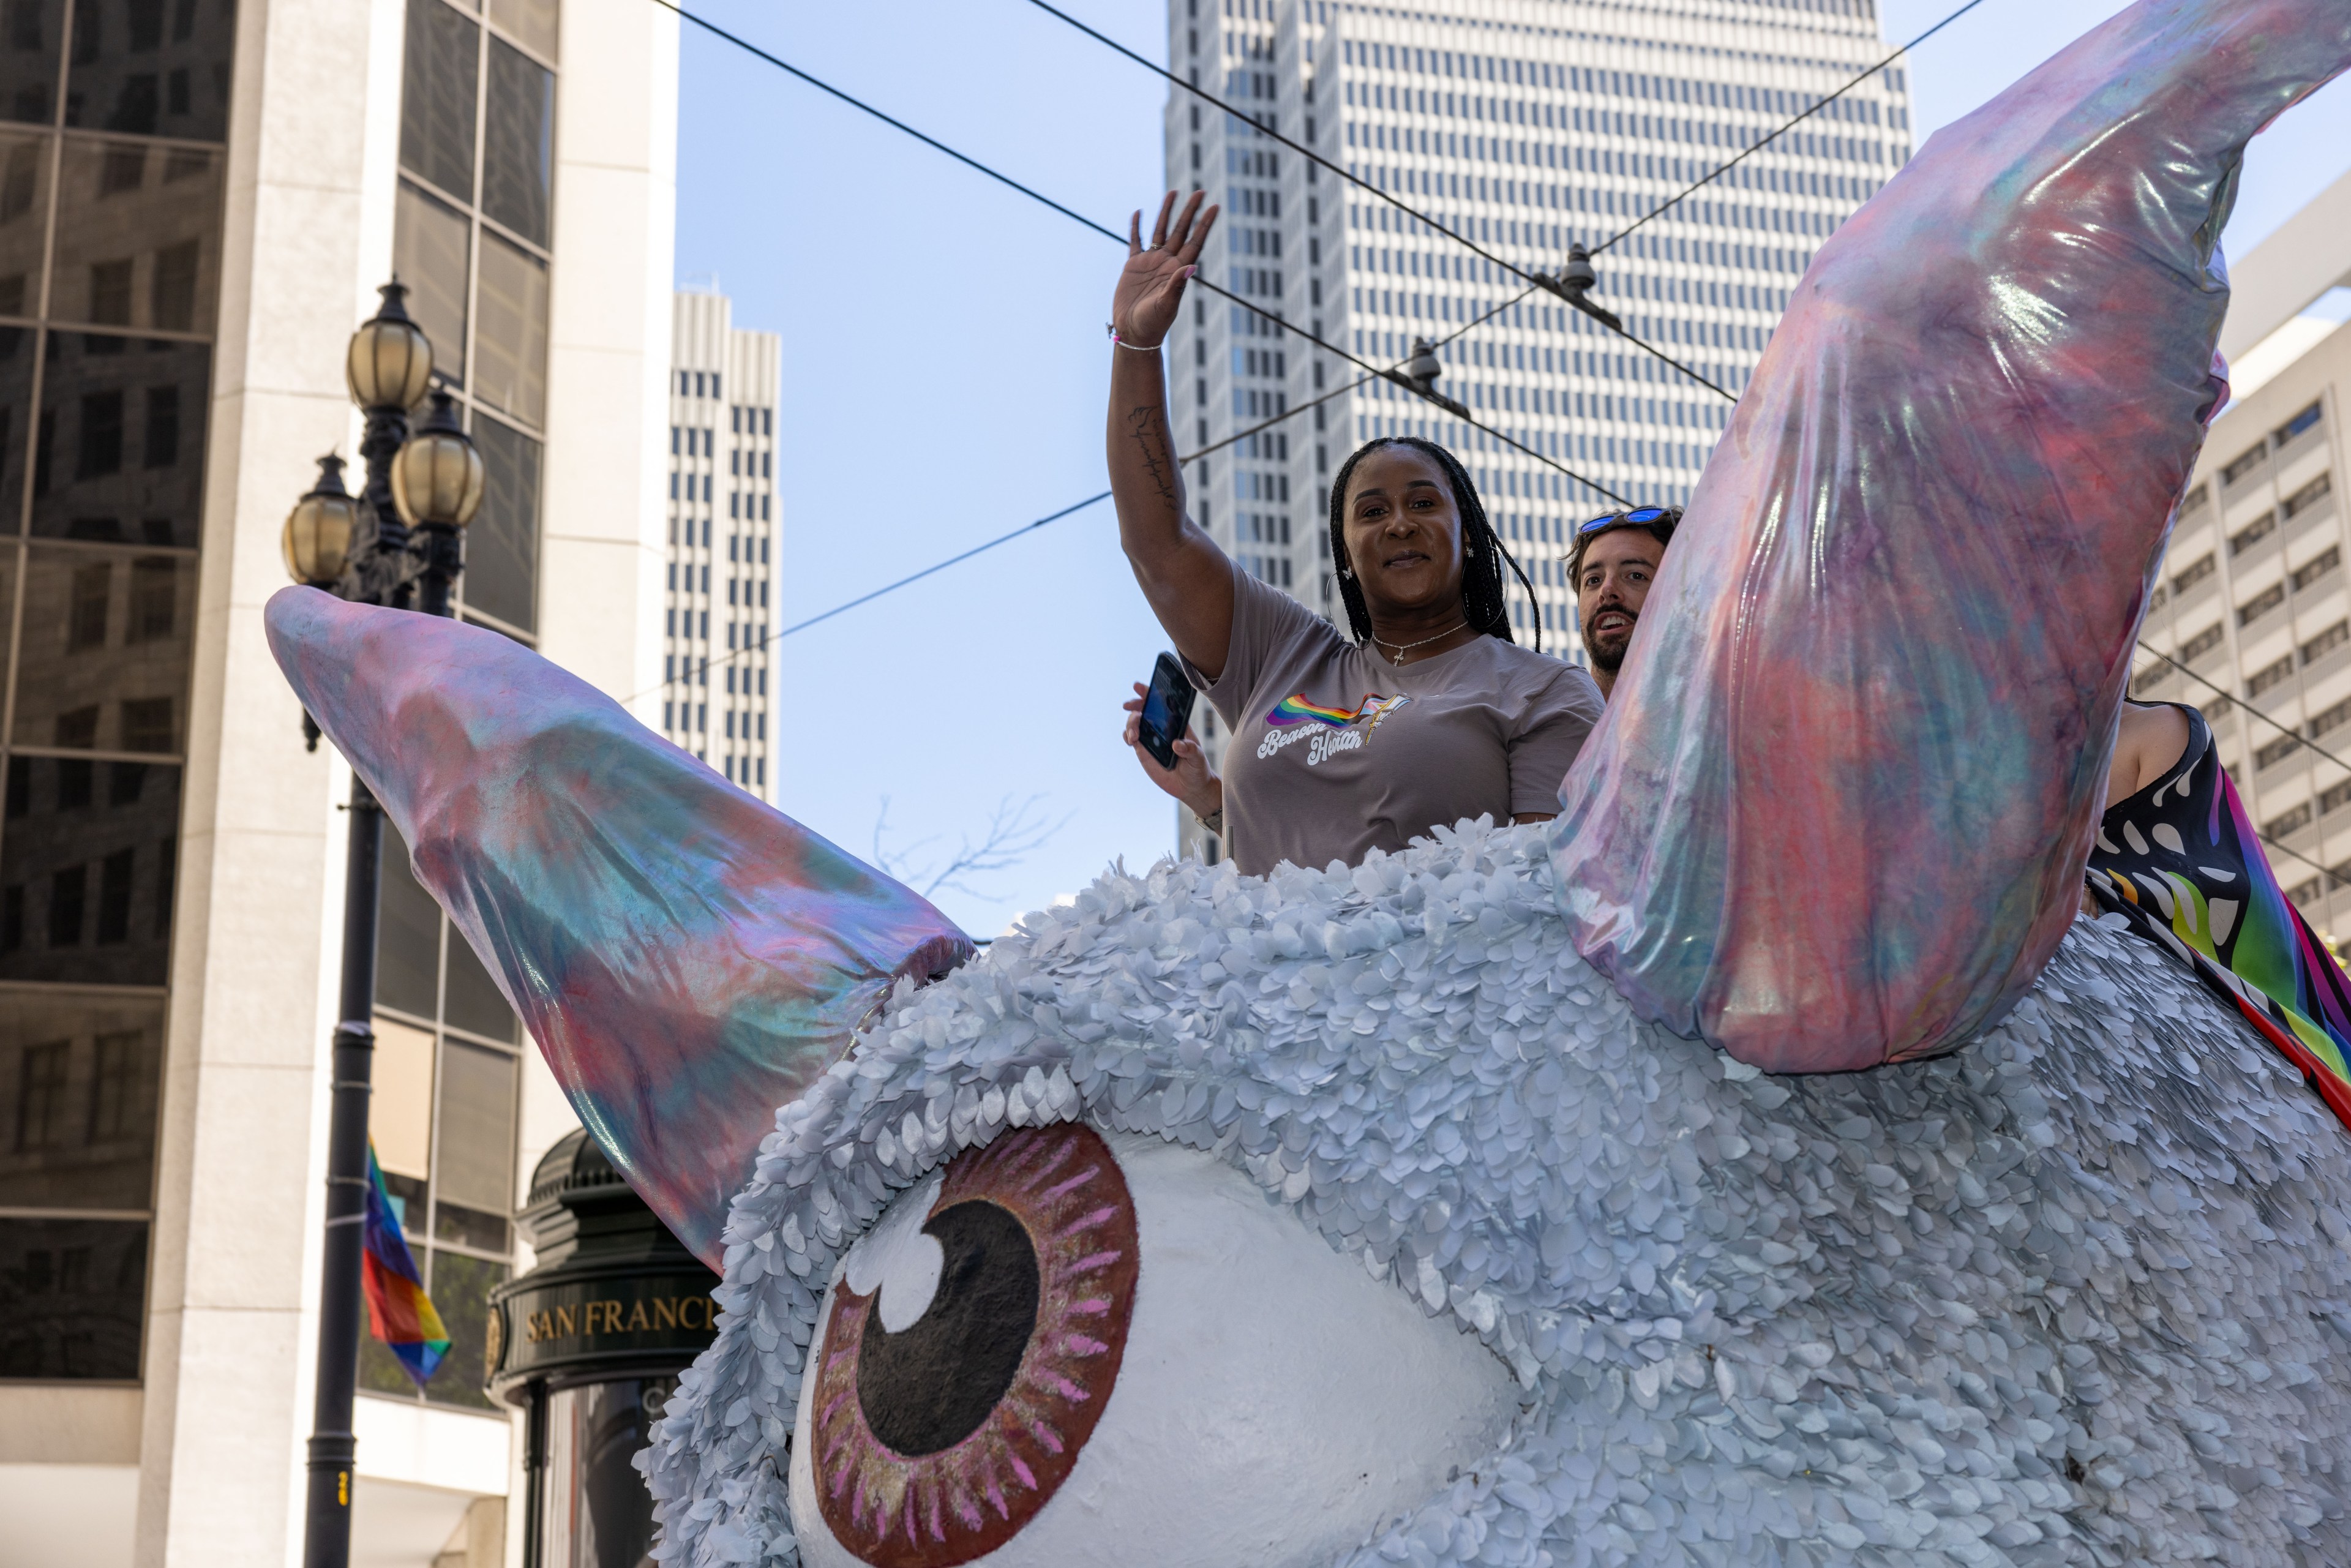
<path id="1" fill-rule="evenodd" d="M 2203 458 L 2139 628 L 2132 696 L 2189 703 L 2285 896 L 2351 938 L 2351 174 L 2231 266 L 2236 400 Z M 2335 757 L 2344 762 L 2335 762 Z"/>

